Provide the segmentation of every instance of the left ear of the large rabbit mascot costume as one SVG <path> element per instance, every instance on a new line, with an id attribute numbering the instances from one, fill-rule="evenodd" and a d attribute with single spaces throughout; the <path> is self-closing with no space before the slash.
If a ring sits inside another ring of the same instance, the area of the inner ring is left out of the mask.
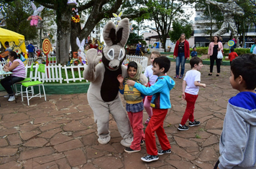
<path id="1" fill-rule="evenodd" d="M 112 46 L 117 44 L 116 42 L 116 25 L 113 21 L 109 21 L 103 29 L 103 39 L 106 42 L 107 46 Z"/>

